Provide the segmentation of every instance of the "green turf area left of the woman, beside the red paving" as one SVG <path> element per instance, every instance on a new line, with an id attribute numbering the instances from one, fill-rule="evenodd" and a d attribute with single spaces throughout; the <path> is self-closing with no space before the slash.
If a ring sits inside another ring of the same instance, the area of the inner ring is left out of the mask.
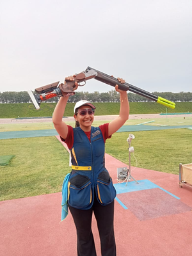
<path id="1" fill-rule="evenodd" d="M 59 192 L 71 169 L 68 152 L 55 137 L 1 140 L 2 154 L 15 157 L 0 167 L 0 200 Z"/>

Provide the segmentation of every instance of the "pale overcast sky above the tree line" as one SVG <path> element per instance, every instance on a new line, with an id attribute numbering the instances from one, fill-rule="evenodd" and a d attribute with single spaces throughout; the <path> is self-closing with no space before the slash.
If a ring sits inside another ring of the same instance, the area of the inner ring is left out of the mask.
<path id="1" fill-rule="evenodd" d="M 90 66 L 148 92 L 191 92 L 191 0 L 1 0 L 0 92 Z M 81 92 L 108 92 L 95 79 Z"/>

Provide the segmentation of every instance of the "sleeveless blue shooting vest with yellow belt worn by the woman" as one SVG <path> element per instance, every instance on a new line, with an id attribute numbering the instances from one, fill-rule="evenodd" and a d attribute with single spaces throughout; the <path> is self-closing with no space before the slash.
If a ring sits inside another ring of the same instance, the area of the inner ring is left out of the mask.
<path id="1" fill-rule="evenodd" d="M 90 209 L 94 196 L 102 205 L 113 202 L 116 190 L 105 168 L 105 145 L 99 127 L 92 127 L 91 142 L 80 127 L 74 130 L 72 172 L 68 179 L 68 205 Z"/>

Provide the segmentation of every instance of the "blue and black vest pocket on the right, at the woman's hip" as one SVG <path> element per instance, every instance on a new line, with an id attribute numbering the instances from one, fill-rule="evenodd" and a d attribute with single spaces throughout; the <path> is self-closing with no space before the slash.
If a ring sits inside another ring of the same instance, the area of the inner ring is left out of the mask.
<path id="1" fill-rule="evenodd" d="M 107 171 L 102 171 L 97 179 L 97 198 L 100 204 L 107 205 L 113 202 L 116 190 Z"/>

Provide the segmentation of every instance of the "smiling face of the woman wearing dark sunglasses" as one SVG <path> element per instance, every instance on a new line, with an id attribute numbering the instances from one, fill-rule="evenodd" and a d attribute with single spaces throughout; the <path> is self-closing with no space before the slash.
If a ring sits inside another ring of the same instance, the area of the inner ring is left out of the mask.
<path id="1" fill-rule="evenodd" d="M 79 126 L 83 131 L 90 131 L 94 120 L 93 109 L 88 105 L 83 105 L 78 108 L 78 113 L 74 115 L 74 118 L 79 122 Z"/>

